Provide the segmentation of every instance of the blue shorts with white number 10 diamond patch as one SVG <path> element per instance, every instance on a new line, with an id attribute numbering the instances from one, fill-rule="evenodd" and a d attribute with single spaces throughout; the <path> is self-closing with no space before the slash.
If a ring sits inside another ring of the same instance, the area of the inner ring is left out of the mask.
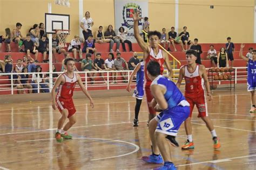
<path id="1" fill-rule="evenodd" d="M 180 125 L 190 116 L 190 107 L 178 105 L 167 113 L 160 112 L 155 117 L 158 121 L 156 132 L 177 136 Z"/>

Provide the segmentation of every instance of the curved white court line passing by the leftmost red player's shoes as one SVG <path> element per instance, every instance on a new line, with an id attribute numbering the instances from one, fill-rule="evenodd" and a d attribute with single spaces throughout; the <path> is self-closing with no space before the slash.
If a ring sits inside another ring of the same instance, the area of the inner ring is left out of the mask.
<path id="1" fill-rule="evenodd" d="M 16 141 L 16 143 L 25 143 L 25 142 L 29 142 L 29 141 L 41 141 L 41 140 L 55 140 L 55 138 L 49 138 L 49 139 L 35 139 L 35 140 L 22 140 L 22 141 Z M 125 153 L 125 154 L 121 154 L 121 155 L 117 155 L 117 156 L 113 156 L 113 157 L 105 157 L 105 158 L 97 158 L 97 159 L 91 159 L 91 161 L 95 161 L 95 160 L 102 160 L 102 159 L 111 159 L 111 158 L 118 158 L 118 157 L 124 157 L 126 155 L 129 154 L 133 154 L 135 152 L 139 151 L 139 146 L 127 141 L 123 141 L 123 140 L 114 140 L 114 139 L 104 139 L 104 138 L 73 138 L 73 139 L 92 139 L 92 140 L 109 140 L 109 141 L 116 141 L 118 143 L 126 143 L 129 145 L 132 145 L 135 147 L 135 150 L 129 153 Z"/>

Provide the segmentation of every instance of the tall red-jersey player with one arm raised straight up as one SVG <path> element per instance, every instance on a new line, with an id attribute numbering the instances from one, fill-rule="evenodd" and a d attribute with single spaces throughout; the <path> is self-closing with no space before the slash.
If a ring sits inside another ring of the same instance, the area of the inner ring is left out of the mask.
<path id="1" fill-rule="evenodd" d="M 144 74 L 145 74 L 145 93 L 146 93 L 146 98 L 147 98 L 147 106 L 149 108 L 149 121 L 154 118 L 156 116 L 156 111 L 154 110 L 153 107 L 151 107 L 150 102 L 153 100 L 153 96 L 151 94 L 150 91 L 150 85 L 151 85 L 151 80 L 149 79 L 149 77 L 147 76 L 147 63 L 149 63 L 149 61 L 157 61 L 160 64 L 160 68 L 161 68 L 161 74 L 163 74 L 164 72 L 164 63 L 166 68 L 169 71 L 169 79 L 171 79 L 172 77 L 172 68 L 170 66 L 169 63 L 169 56 L 165 51 L 162 51 L 159 48 L 159 44 L 160 44 L 160 38 L 161 38 L 161 33 L 158 31 L 150 31 L 149 33 L 147 33 L 147 37 L 149 38 L 149 43 L 150 45 L 147 45 L 143 38 L 140 37 L 139 34 L 139 20 L 142 19 L 141 17 L 139 17 L 139 11 L 136 11 L 133 13 L 133 20 L 134 20 L 134 37 L 136 38 L 140 48 L 142 48 L 143 50 L 143 60 L 145 63 L 145 67 L 144 67 Z M 156 103 L 154 104 L 156 105 Z"/>

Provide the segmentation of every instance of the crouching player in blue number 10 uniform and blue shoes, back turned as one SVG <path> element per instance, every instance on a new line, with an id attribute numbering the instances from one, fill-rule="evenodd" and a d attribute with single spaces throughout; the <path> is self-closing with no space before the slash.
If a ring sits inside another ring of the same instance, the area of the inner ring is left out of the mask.
<path id="1" fill-rule="evenodd" d="M 151 129 L 151 125 L 154 125 L 152 122 L 158 122 L 157 129 L 154 132 L 154 140 L 157 146 L 152 145 L 152 147 L 158 148 L 152 148 L 152 151 L 159 149 L 160 154 L 163 156 L 164 166 L 158 169 L 176 169 L 171 159 L 169 141 L 174 147 L 179 146 L 175 138 L 180 125 L 190 115 L 190 104 L 174 82 L 160 75 L 160 65 L 158 62 L 150 61 L 146 67 L 147 76 L 152 80 L 150 90 L 154 97 L 153 100 L 156 101 L 154 109 L 161 111 L 149 124 Z M 166 139 L 169 139 L 169 141 Z M 163 163 L 163 159 L 155 153 L 152 153 L 149 157 L 143 157 L 144 161 L 155 164 Z"/>

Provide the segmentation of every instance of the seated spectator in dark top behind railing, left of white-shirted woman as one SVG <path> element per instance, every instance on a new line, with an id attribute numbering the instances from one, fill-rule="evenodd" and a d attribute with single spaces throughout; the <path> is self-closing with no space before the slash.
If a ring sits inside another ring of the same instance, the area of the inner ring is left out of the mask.
<path id="1" fill-rule="evenodd" d="M 24 67 L 22 73 L 28 73 L 28 68 Z M 29 89 L 29 93 L 32 93 L 32 86 L 29 84 L 29 74 L 19 74 L 17 84 L 18 94 L 25 94 L 24 88 Z"/>

